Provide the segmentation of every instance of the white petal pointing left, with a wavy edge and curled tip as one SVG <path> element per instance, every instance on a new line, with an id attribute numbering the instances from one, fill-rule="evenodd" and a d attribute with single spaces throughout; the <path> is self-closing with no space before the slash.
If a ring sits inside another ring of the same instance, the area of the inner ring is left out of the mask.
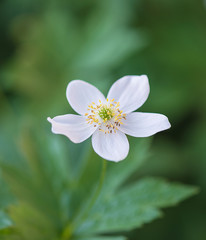
<path id="1" fill-rule="evenodd" d="M 47 119 L 52 124 L 52 132 L 67 136 L 72 142 L 80 143 L 89 138 L 96 130 L 86 122 L 85 117 L 67 114 Z"/>

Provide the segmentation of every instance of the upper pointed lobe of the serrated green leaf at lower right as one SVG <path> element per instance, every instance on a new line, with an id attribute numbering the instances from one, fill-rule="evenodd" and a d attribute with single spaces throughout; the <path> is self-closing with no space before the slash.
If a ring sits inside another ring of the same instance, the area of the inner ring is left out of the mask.
<path id="1" fill-rule="evenodd" d="M 128 196 L 132 196 L 139 205 L 167 207 L 173 206 L 197 192 L 197 187 L 169 183 L 161 178 L 144 178 L 122 189 L 117 197 L 122 202 L 126 202 Z"/>

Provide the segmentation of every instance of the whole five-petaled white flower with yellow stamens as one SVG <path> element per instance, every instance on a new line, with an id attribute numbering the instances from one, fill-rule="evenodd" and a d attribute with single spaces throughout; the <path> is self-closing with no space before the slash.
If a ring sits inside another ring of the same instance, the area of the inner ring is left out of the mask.
<path id="1" fill-rule="evenodd" d="M 61 115 L 48 121 L 53 133 L 63 134 L 74 143 L 92 135 L 94 151 L 104 159 L 118 162 L 129 152 L 125 134 L 149 137 L 171 126 L 162 114 L 133 112 L 148 95 L 149 82 L 145 75 L 120 78 L 110 88 L 107 99 L 93 85 L 74 80 L 68 84 L 66 96 L 80 115 Z"/>

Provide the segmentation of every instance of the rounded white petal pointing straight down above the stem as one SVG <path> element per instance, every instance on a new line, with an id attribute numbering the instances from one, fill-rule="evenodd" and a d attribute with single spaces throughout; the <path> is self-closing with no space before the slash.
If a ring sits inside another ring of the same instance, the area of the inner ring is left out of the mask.
<path id="1" fill-rule="evenodd" d="M 97 130 L 92 136 L 92 146 L 102 158 L 114 162 L 125 159 L 129 152 L 127 137 L 120 131 L 105 134 Z"/>

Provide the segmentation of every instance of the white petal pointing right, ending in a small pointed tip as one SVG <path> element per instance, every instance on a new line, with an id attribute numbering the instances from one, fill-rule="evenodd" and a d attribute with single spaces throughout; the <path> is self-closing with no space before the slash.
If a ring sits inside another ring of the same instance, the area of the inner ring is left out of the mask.
<path id="1" fill-rule="evenodd" d="M 168 118 L 159 113 L 133 112 L 122 122 L 119 129 L 133 137 L 149 137 L 171 127 Z"/>

